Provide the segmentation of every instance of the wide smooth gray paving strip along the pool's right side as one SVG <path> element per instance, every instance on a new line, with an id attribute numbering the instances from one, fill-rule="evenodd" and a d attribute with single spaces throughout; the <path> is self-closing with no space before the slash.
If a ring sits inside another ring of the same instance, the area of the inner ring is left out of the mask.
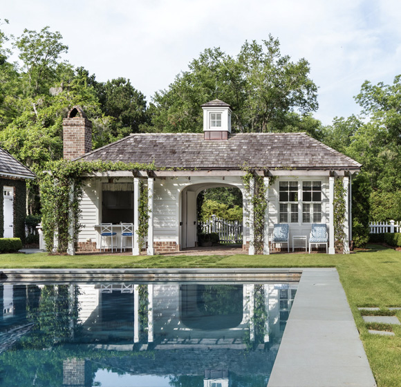
<path id="1" fill-rule="evenodd" d="M 268 387 L 376 386 L 335 269 L 304 269 Z"/>

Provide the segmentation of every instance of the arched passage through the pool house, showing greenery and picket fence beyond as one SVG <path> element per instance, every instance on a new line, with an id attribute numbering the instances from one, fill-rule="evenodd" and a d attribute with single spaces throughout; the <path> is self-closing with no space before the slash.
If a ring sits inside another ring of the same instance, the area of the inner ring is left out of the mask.
<path id="1" fill-rule="evenodd" d="M 183 189 L 180 200 L 181 249 L 201 247 L 205 242 L 209 246 L 212 233 L 215 243 L 218 234 L 219 246 L 243 244 L 243 193 L 239 187 L 240 184 L 209 182 Z"/>

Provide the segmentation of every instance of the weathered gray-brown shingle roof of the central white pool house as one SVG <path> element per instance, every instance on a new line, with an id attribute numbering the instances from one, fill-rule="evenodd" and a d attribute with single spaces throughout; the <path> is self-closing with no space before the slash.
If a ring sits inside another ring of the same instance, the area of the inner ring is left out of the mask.
<path id="1" fill-rule="evenodd" d="M 159 168 L 360 169 L 361 164 L 306 133 L 241 133 L 204 140 L 203 133 L 132 134 L 76 160 L 154 162 Z"/>

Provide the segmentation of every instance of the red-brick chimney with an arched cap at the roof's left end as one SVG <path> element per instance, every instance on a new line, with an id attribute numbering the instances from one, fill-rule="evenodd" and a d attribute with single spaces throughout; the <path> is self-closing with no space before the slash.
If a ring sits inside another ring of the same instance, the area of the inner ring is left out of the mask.
<path id="1" fill-rule="evenodd" d="M 73 160 L 92 150 L 92 123 L 80 106 L 63 120 L 64 160 Z"/>

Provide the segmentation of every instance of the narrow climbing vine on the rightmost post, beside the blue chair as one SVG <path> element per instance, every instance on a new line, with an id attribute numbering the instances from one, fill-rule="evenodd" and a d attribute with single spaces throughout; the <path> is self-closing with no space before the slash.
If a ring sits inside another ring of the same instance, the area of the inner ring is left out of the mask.
<path id="1" fill-rule="evenodd" d="M 347 248 L 347 238 L 344 232 L 346 222 L 346 188 L 344 178 L 336 178 L 334 183 L 334 240 L 337 252 L 344 252 Z"/>

